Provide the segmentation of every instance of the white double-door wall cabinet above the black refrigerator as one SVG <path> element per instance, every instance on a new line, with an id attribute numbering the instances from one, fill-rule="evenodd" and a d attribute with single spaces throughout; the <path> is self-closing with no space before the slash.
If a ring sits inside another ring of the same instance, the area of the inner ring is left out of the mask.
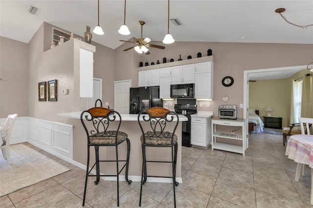
<path id="1" fill-rule="evenodd" d="M 138 86 L 158 86 L 159 69 L 151 69 L 138 72 Z"/>

